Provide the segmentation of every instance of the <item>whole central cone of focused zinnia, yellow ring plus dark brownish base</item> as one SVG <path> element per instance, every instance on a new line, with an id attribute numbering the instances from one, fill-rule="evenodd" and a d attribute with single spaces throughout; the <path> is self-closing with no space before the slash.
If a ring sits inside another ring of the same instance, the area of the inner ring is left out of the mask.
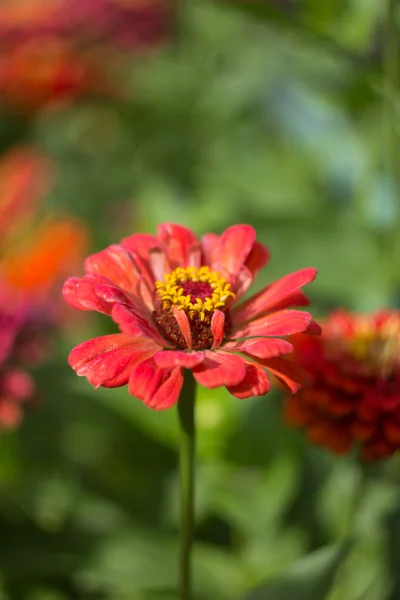
<path id="1" fill-rule="evenodd" d="M 172 312 L 173 307 L 183 310 L 188 319 L 194 350 L 211 348 L 214 337 L 211 318 L 216 310 L 225 314 L 224 333 L 229 331 L 229 301 L 235 298 L 227 283 L 217 271 L 209 267 L 178 267 L 165 275 L 165 281 L 156 281 L 159 305 L 154 321 L 160 333 L 177 348 L 186 347 L 185 339 Z"/>

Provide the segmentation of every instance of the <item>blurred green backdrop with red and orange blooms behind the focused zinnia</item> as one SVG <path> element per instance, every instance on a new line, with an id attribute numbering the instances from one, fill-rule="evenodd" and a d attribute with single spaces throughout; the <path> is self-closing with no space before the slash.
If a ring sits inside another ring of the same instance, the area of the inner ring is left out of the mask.
<path id="1" fill-rule="evenodd" d="M 399 305 L 390 4 L 0 3 L 0 273 L 56 315 L 0 431 L 1 600 L 177 598 L 176 411 L 68 367 L 113 331 L 63 305 L 85 254 L 249 223 L 258 287 L 314 266 L 317 316 Z M 396 457 L 356 496 L 359 467 L 289 429 L 278 390 L 200 390 L 197 422 L 195 600 L 400 598 Z"/>

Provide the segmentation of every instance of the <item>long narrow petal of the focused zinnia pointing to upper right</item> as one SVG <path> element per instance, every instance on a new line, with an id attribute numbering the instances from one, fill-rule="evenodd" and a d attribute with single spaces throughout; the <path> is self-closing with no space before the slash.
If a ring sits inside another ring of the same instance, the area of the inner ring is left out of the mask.
<path id="1" fill-rule="evenodd" d="M 271 308 L 274 308 L 276 304 L 282 302 L 287 296 L 291 296 L 300 287 L 313 281 L 316 274 L 316 269 L 308 268 L 282 277 L 282 279 L 272 283 L 236 307 L 232 315 L 234 322 L 247 321 L 270 311 Z"/>

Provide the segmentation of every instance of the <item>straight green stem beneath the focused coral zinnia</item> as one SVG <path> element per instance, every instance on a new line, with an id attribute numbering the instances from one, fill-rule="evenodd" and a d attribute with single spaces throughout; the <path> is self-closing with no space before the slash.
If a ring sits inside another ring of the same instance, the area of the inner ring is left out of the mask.
<path id="1" fill-rule="evenodd" d="M 180 600 L 191 598 L 191 554 L 194 526 L 194 468 L 195 468 L 195 397 L 196 382 L 192 372 L 185 370 L 182 393 L 178 401 L 181 428 L 180 491 L 181 491 L 181 549 Z"/>

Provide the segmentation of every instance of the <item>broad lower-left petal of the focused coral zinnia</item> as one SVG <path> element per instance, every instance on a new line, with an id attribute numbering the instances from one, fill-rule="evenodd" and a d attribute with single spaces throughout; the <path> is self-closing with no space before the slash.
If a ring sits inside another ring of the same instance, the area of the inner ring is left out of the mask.
<path id="1" fill-rule="evenodd" d="M 83 342 L 72 350 L 68 362 L 95 387 L 119 387 L 128 383 L 135 365 L 158 348 L 151 340 L 117 333 Z"/>

